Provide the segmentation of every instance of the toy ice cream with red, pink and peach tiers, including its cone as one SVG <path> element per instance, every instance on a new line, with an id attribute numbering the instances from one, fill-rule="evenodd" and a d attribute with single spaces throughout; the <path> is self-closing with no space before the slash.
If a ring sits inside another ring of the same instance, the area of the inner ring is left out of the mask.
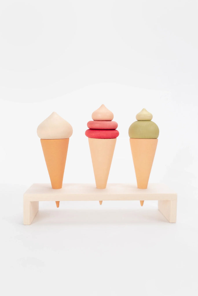
<path id="1" fill-rule="evenodd" d="M 89 138 L 92 165 L 95 176 L 96 188 L 106 188 L 111 161 L 119 131 L 118 124 L 112 121 L 113 113 L 105 105 L 101 105 L 92 113 L 93 121 L 87 123 L 89 128 L 85 135 Z M 100 201 L 100 205 L 102 201 Z"/>

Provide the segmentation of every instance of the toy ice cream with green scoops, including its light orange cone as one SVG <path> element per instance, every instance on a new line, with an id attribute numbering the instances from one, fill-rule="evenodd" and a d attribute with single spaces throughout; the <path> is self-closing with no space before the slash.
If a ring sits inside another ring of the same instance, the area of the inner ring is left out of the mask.
<path id="1" fill-rule="evenodd" d="M 137 121 L 129 127 L 130 146 L 135 167 L 137 185 L 140 189 L 146 189 L 155 156 L 159 128 L 151 119 L 153 115 L 146 109 L 142 109 L 136 115 Z M 143 206 L 143 200 L 140 200 Z"/>

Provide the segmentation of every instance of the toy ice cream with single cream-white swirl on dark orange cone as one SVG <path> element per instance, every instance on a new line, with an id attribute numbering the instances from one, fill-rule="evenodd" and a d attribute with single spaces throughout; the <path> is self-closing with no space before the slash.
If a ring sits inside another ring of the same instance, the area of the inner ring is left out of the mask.
<path id="1" fill-rule="evenodd" d="M 56 112 L 37 128 L 53 189 L 62 188 L 69 138 L 72 133 L 72 126 Z M 59 201 L 56 201 L 56 206 L 59 207 Z"/>

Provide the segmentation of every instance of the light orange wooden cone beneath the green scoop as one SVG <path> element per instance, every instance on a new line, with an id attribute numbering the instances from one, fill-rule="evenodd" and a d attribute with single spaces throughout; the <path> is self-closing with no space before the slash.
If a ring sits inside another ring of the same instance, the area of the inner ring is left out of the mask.
<path id="1" fill-rule="evenodd" d="M 140 189 L 146 189 L 148 186 L 157 141 L 158 139 L 130 139 L 135 175 Z"/>

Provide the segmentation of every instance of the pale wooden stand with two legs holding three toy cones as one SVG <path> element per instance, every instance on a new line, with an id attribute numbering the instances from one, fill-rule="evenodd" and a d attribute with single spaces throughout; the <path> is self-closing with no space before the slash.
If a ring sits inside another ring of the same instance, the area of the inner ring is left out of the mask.
<path id="1" fill-rule="evenodd" d="M 134 184 L 107 184 L 105 189 L 97 189 L 95 184 L 63 184 L 61 189 L 52 189 L 51 184 L 33 184 L 23 196 L 24 225 L 32 223 L 39 201 L 57 200 L 158 200 L 162 215 L 170 223 L 176 222 L 177 194 L 164 184 L 149 184 L 147 189 L 138 189 Z"/>

